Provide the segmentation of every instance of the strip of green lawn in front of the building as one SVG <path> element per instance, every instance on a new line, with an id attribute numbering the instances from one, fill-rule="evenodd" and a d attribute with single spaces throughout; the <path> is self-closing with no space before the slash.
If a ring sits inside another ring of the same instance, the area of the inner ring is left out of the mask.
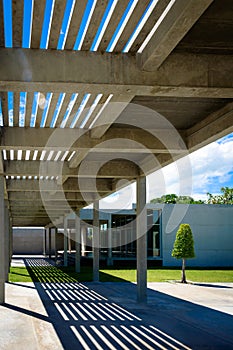
<path id="1" fill-rule="evenodd" d="M 164 282 L 179 280 L 180 269 L 156 268 L 148 270 L 148 282 Z M 193 282 L 233 282 L 233 270 L 187 269 L 187 280 Z M 76 273 L 73 267 L 11 267 L 9 280 L 11 282 L 88 282 L 92 281 L 92 268 L 83 267 L 81 273 Z M 101 269 L 102 282 L 136 282 L 135 269 Z"/>

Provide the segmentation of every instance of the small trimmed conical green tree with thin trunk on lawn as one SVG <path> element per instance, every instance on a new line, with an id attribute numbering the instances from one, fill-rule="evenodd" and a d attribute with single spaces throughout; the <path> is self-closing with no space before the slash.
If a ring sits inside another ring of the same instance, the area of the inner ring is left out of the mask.
<path id="1" fill-rule="evenodd" d="M 187 283 L 185 275 L 186 259 L 195 257 L 193 235 L 189 224 L 180 225 L 176 233 L 172 256 L 177 259 L 182 259 L 181 283 Z"/>

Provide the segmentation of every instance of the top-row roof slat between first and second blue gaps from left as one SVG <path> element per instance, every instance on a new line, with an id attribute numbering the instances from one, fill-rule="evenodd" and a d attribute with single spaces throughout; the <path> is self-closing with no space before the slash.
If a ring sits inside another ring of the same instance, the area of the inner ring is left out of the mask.
<path id="1" fill-rule="evenodd" d="M 24 1 L 13 0 L 13 47 L 22 47 Z"/>

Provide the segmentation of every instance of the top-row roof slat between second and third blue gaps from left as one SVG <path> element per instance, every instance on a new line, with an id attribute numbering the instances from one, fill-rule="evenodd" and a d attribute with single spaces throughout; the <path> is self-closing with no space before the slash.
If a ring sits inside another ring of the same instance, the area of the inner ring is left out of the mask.
<path id="1" fill-rule="evenodd" d="M 42 26 L 44 21 L 44 10 L 46 0 L 34 1 L 33 21 L 32 21 L 32 39 L 31 48 L 38 49 L 40 47 L 40 39 Z"/>

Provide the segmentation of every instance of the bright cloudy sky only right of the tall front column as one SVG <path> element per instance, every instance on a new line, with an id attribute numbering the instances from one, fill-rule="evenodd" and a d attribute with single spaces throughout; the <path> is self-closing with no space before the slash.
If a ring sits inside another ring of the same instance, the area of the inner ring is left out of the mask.
<path id="1" fill-rule="evenodd" d="M 182 164 L 173 163 L 163 169 L 166 188 L 164 193 L 192 195 L 194 198 L 206 198 L 206 193 L 219 193 L 220 188 L 231 180 L 233 171 L 233 138 L 224 138 L 224 142 L 214 142 L 189 155 L 192 175 L 187 172 L 188 166 L 182 170 Z M 187 165 L 187 164 L 186 164 Z M 181 180 L 177 169 L 184 172 Z M 191 175 L 191 176 L 190 176 Z M 156 182 L 157 174 L 150 175 Z M 232 184 L 233 185 L 233 184 Z M 158 187 L 158 186 L 157 186 Z M 150 188 L 150 199 L 158 197 L 156 186 Z M 192 187 L 192 191 L 190 192 Z M 159 194 L 160 194 L 159 193 Z"/>

